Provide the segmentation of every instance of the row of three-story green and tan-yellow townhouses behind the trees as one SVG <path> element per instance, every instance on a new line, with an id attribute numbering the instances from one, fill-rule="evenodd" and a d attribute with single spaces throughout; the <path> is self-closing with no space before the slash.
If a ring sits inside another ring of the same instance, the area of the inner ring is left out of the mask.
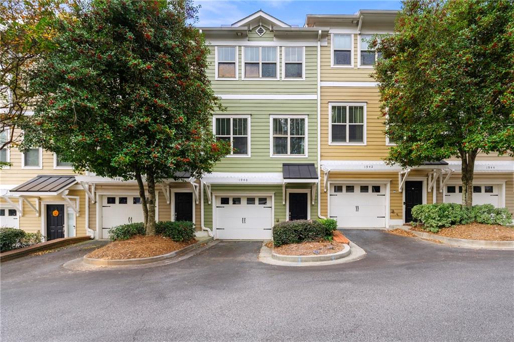
<path id="1" fill-rule="evenodd" d="M 198 235 L 216 239 L 271 239 L 272 226 L 286 220 L 386 228 L 410 222 L 416 204 L 460 203 L 460 160 L 411 169 L 383 162 L 394 142 L 372 78 L 380 56 L 368 39 L 393 32 L 396 15 L 307 15 L 295 27 L 258 11 L 199 28 L 225 107 L 212 129 L 233 151 L 201 179 L 183 172 L 158 184 L 157 220 L 190 220 Z M 0 170 L 0 226 L 102 239 L 143 219 L 135 180 L 75 174 L 41 148 L 5 148 L 0 158 L 12 164 Z M 473 192 L 475 204 L 514 213 L 512 158 L 480 155 Z"/>

